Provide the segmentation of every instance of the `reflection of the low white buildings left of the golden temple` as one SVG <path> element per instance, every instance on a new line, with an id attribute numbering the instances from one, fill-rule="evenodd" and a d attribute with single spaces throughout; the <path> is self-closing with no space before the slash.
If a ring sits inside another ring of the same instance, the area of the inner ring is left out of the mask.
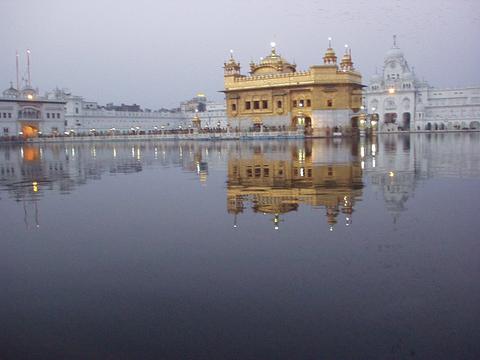
<path id="1" fill-rule="evenodd" d="M 205 183 L 208 164 L 223 166 L 227 152 L 213 142 L 2 144 L 0 200 L 7 195 L 22 203 L 25 226 L 39 227 L 40 202 L 47 192 L 69 194 L 105 175 L 135 174 L 158 166 L 193 173 Z"/>

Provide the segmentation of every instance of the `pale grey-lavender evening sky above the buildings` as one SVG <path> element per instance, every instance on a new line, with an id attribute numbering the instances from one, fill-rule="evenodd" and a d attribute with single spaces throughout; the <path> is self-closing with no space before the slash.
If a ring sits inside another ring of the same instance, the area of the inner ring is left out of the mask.
<path id="1" fill-rule="evenodd" d="M 480 85 L 479 0 L 0 0 L 0 88 L 15 82 L 15 52 L 40 92 L 67 88 L 100 104 L 172 108 L 202 92 L 223 100 L 230 50 L 277 52 L 298 70 L 321 64 L 333 38 L 364 83 L 382 70 L 393 35 L 417 76 L 438 87 Z"/>

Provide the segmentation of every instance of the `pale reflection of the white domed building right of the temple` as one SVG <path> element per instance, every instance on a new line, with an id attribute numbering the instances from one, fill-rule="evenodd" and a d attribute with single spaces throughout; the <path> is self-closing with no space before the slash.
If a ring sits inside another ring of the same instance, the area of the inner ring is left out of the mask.
<path id="1" fill-rule="evenodd" d="M 392 222 L 408 210 L 419 184 L 433 178 L 480 178 L 480 133 L 384 134 L 361 140 L 366 186 L 380 195 Z"/>

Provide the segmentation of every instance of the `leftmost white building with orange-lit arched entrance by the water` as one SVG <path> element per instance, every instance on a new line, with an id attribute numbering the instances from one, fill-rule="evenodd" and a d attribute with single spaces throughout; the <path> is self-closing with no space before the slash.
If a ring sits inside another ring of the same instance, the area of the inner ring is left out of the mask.
<path id="1" fill-rule="evenodd" d="M 26 85 L 20 91 L 10 86 L 0 97 L 0 137 L 31 138 L 40 134 L 63 134 L 65 101 L 38 95 Z"/>

